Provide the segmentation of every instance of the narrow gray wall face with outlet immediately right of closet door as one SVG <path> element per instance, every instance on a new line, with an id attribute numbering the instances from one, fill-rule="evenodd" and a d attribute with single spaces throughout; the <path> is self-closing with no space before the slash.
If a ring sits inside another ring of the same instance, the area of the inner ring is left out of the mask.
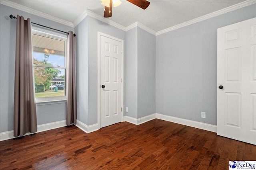
<path id="1" fill-rule="evenodd" d="M 138 28 L 126 32 L 124 115 L 138 118 Z M 128 107 L 128 112 L 125 112 Z"/>

